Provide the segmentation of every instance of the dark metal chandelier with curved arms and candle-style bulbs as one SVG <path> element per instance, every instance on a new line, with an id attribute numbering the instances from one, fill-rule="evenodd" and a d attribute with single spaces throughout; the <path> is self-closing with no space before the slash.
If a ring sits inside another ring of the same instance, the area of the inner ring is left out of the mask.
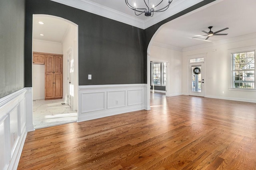
<path id="1" fill-rule="evenodd" d="M 160 9 L 157 9 L 157 7 L 163 2 L 164 0 L 161 0 L 160 2 L 159 2 L 159 4 L 157 4 L 157 5 L 152 5 L 152 8 L 150 8 L 149 6 L 149 0 L 148 0 L 148 3 L 146 3 L 146 0 L 144 0 L 144 2 L 145 2 L 145 5 L 146 5 L 146 7 L 145 8 L 137 8 L 137 6 L 136 6 L 136 2 L 134 2 L 134 7 L 132 7 L 129 3 L 128 3 L 128 0 L 125 0 L 125 2 L 126 2 L 126 5 L 129 7 L 129 8 L 131 8 L 132 10 L 134 10 L 134 13 L 135 13 L 135 15 L 136 16 L 139 16 L 139 15 L 141 15 L 141 14 L 143 14 L 143 13 L 145 13 L 145 16 L 153 16 L 154 15 L 154 12 L 164 12 L 165 10 L 167 10 L 168 8 L 169 8 L 169 6 L 170 6 L 170 4 L 172 3 L 172 0 L 168 0 L 168 4 L 165 6 L 165 7 L 162 7 L 162 8 L 160 8 Z M 136 12 L 138 12 L 138 14 L 136 13 Z"/>

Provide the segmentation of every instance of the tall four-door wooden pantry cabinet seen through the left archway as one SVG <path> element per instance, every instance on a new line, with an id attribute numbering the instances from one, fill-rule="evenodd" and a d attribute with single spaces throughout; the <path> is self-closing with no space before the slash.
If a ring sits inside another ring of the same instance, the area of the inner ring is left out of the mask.
<path id="1" fill-rule="evenodd" d="M 59 55 L 45 55 L 45 100 L 62 99 L 63 59 Z"/>

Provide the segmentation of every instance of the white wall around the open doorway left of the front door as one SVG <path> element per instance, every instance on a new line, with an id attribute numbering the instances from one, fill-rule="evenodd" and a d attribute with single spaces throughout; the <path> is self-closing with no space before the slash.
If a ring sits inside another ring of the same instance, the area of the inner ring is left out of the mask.
<path id="1" fill-rule="evenodd" d="M 182 52 L 152 45 L 150 47 L 150 61 L 168 62 L 168 87 L 166 96 L 182 94 Z"/>

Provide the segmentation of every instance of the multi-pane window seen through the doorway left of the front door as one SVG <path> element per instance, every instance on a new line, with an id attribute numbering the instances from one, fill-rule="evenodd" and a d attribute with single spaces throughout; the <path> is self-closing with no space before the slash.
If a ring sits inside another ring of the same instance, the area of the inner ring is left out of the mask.
<path id="1" fill-rule="evenodd" d="M 151 84 L 166 86 L 166 63 L 151 62 Z"/>

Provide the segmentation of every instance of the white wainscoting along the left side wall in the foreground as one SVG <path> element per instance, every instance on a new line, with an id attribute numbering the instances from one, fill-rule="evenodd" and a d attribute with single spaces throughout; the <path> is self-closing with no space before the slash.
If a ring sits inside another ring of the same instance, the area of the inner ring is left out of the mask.
<path id="1" fill-rule="evenodd" d="M 18 167 L 26 139 L 26 88 L 0 98 L 0 169 Z"/>

